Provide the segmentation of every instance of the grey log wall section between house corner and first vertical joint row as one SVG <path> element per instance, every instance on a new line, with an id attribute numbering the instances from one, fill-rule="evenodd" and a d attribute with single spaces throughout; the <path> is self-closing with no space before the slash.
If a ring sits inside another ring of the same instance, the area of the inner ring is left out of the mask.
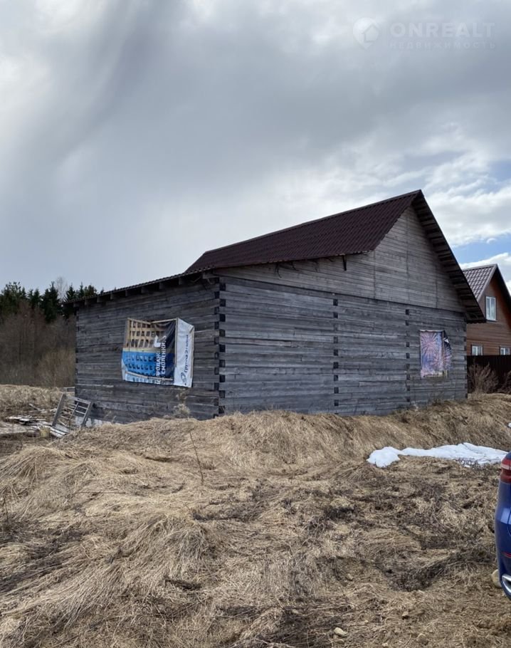
<path id="1" fill-rule="evenodd" d="M 331 296 L 235 278 L 220 288 L 221 412 L 330 411 Z"/>

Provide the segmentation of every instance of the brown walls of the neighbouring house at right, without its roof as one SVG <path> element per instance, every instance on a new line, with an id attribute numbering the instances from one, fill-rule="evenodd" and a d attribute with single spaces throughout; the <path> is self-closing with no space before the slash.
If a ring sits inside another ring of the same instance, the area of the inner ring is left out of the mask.
<path id="1" fill-rule="evenodd" d="M 485 288 L 479 303 L 486 315 L 486 297 L 495 297 L 497 320 L 467 327 L 467 353 L 472 355 L 472 345 L 482 345 L 484 355 L 499 355 L 500 347 L 511 348 L 511 312 L 507 306 L 496 274 Z"/>

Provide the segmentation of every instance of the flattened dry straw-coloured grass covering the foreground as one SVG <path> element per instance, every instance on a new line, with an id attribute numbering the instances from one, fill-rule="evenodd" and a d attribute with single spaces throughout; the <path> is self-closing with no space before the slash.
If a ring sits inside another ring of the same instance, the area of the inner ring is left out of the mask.
<path id="1" fill-rule="evenodd" d="M 0 459 L 5 648 L 503 647 L 497 468 L 377 447 L 511 446 L 511 397 L 391 417 L 267 412 L 84 429 Z"/>

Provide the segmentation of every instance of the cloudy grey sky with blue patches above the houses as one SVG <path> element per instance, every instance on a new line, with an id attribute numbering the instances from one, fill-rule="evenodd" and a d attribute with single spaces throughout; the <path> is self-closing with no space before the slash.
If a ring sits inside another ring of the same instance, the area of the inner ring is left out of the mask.
<path id="1" fill-rule="evenodd" d="M 508 0 L 0 0 L 0 283 L 112 288 L 423 189 L 511 285 Z"/>

